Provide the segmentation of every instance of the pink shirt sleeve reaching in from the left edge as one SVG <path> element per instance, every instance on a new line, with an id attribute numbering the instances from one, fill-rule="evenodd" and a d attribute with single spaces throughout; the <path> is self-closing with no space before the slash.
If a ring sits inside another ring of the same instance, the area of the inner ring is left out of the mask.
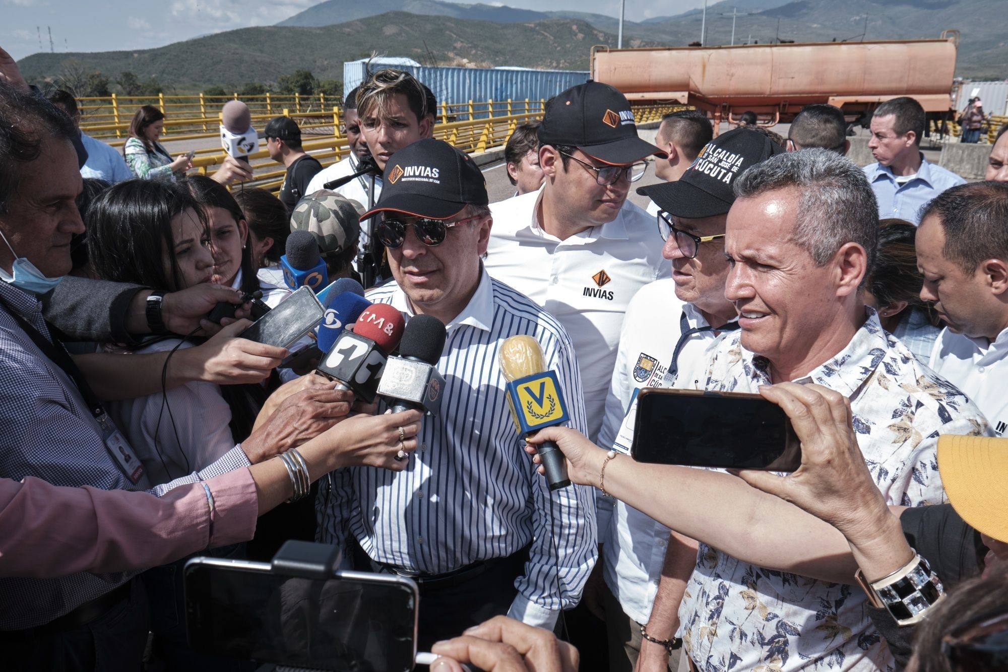
<path id="1" fill-rule="evenodd" d="M 0 479 L 0 576 L 55 578 L 80 571 L 144 569 L 208 546 L 247 541 L 259 505 L 248 468 L 207 482 L 214 496 L 214 538 L 203 484 L 162 497 L 85 486 L 59 488 L 27 478 Z"/>

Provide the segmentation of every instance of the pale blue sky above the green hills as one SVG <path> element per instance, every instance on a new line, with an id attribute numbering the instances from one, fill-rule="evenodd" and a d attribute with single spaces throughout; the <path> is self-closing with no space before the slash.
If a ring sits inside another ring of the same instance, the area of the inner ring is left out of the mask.
<path id="1" fill-rule="evenodd" d="M 552 0 L 547 7 L 541 0 L 482 1 L 610 16 L 620 11 L 618 0 Z M 0 0 L 0 46 L 14 58 L 48 51 L 49 26 L 55 51 L 149 48 L 233 28 L 272 25 L 314 4 L 319 0 Z M 703 4 L 704 0 L 627 0 L 626 18 L 679 14 Z"/>

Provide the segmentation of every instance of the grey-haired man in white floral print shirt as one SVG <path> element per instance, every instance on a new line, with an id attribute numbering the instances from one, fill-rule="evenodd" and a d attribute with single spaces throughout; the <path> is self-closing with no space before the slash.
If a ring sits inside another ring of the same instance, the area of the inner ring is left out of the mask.
<path id="1" fill-rule="evenodd" d="M 794 381 L 842 392 L 888 503 L 944 501 L 937 435 L 986 433 L 987 423 L 864 305 L 878 230 L 864 173 L 832 152 L 802 150 L 746 171 L 735 192 L 726 296 L 741 328 L 715 347 L 705 388 L 756 392 Z M 866 604 L 855 585 L 769 570 L 701 544 L 679 621 L 701 670 L 893 669 Z"/>

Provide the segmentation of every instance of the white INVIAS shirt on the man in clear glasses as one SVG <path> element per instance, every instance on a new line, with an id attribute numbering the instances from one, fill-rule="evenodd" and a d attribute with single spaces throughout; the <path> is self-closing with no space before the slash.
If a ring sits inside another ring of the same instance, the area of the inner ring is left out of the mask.
<path id="1" fill-rule="evenodd" d="M 647 213 L 629 200 L 612 222 L 560 241 L 536 215 L 546 186 L 490 207 L 491 276 L 556 317 L 574 341 L 585 387 L 589 437 L 602 425 L 623 315 L 637 290 L 671 275 Z"/>

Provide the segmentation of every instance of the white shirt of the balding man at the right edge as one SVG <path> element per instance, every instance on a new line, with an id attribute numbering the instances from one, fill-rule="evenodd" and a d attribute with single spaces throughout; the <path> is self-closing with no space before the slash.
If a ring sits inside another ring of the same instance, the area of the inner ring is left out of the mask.
<path id="1" fill-rule="evenodd" d="M 998 436 L 1008 436 L 1008 329 L 993 343 L 941 329 L 929 365 L 975 403 Z"/>

